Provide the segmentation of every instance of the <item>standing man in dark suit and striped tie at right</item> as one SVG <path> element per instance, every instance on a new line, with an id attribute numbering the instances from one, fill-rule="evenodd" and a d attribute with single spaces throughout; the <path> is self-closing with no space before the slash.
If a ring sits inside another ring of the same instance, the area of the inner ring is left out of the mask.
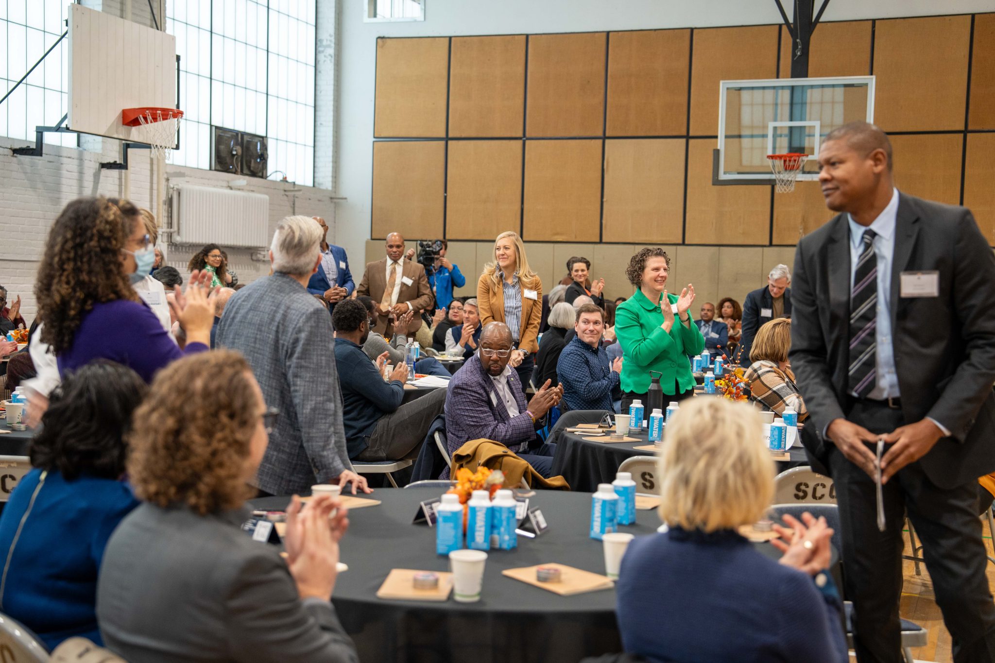
<path id="1" fill-rule="evenodd" d="M 976 511 L 977 477 L 995 470 L 995 258 L 968 210 L 895 189 L 878 127 L 831 131 L 819 165 L 841 214 L 798 243 L 790 358 L 806 451 L 836 482 L 858 661 L 901 660 L 906 513 L 953 660 L 995 660 Z"/>

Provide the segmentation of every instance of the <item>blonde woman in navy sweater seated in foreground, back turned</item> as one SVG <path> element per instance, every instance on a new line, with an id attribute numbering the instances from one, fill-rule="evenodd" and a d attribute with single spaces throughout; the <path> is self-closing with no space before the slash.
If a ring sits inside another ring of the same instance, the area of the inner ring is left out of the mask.
<path id="1" fill-rule="evenodd" d="M 825 519 L 786 516 L 793 532 L 777 528 L 779 563 L 737 533 L 774 495 L 755 410 L 724 399 L 682 404 L 667 425 L 660 492 L 669 530 L 629 544 L 617 583 L 627 653 L 673 663 L 847 661 Z"/>

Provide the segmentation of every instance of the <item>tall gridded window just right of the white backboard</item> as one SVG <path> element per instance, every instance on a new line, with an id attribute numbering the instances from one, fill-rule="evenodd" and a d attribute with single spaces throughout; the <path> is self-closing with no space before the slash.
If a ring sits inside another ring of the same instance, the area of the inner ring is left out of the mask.
<path id="1" fill-rule="evenodd" d="M 211 168 L 211 125 L 267 137 L 269 170 L 314 180 L 314 0 L 169 0 L 180 56 L 180 149 Z"/>

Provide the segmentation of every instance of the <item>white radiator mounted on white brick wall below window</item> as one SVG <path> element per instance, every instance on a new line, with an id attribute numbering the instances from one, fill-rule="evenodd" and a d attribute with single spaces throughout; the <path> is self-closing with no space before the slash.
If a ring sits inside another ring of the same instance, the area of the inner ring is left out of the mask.
<path id="1" fill-rule="evenodd" d="M 173 189 L 172 244 L 222 247 L 270 246 L 270 197 L 230 189 Z"/>

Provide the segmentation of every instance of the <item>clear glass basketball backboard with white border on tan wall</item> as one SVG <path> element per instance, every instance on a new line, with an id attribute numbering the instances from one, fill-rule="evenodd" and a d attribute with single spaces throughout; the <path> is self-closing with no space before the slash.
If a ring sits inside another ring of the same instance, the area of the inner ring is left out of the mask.
<path id="1" fill-rule="evenodd" d="M 855 120 L 874 121 L 873 76 L 719 83 L 716 184 L 770 184 L 768 154 L 803 153 L 799 180 L 819 178 L 819 145 Z"/>

